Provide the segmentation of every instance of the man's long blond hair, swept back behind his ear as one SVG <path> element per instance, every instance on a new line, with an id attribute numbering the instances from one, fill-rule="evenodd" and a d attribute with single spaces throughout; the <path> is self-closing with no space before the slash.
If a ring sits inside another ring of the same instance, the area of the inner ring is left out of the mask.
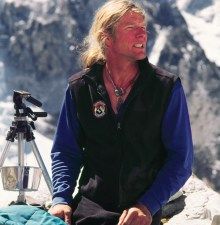
<path id="1" fill-rule="evenodd" d="M 105 63 L 104 34 L 114 36 L 116 23 L 127 11 L 137 12 L 146 20 L 145 11 L 132 0 L 109 0 L 96 11 L 89 34 L 84 40 L 85 50 L 81 54 L 84 68 L 91 67 L 94 63 Z"/>

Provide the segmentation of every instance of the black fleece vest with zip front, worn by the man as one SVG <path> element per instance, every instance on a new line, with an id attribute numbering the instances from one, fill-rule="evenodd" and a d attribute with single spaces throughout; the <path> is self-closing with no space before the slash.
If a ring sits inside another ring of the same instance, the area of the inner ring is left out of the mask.
<path id="1" fill-rule="evenodd" d="M 81 125 L 84 168 L 79 194 L 120 211 L 136 203 L 166 159 L 161 124 L 176 76 L 139 61 L 140 74 L 116 116 L 103 84 L 103 65 L 72 76 L 70 88 Z M 107 106 L 94 116 L 94 104 Z"/>

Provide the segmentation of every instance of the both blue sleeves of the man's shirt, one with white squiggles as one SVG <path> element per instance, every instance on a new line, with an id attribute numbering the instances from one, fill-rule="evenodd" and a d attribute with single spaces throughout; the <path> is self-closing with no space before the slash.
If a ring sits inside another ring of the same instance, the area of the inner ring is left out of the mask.
<path id="1" fill-rule="evenodd" d="M 162 121 L 167 159 L 150 189 L 138 200 L 155 214 L 191 175 L 193 144 L 186 98 L 180 81 L 172 89 Z M 82 164 L 79 121 L 67 89 L 52 148 L 53 205 L 70 204 Z"/>

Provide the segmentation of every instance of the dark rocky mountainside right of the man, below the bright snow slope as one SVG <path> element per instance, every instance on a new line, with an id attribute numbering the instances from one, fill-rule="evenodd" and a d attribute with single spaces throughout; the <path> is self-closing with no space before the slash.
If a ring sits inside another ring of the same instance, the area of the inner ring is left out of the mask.
<path id="1" fill-rule="evenodd" d="M 206 57 L 174 3 L 146 3 L 149 38 L 153 40 L 149 43 L 149 59 L 180 75 L 191 118 L 194 171 L 220 190 L 220 68 Z"/>

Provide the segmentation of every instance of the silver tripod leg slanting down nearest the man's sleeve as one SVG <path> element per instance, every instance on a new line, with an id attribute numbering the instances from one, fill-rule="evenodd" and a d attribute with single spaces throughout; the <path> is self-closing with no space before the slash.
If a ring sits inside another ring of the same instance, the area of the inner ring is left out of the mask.
<path id="1" fill-rule="evenodd" d="M 39 153 L 39 150 L 37 148 L 37 145 L 36 145 L 35 141 L 32 140 L 32 141 L 30 141 L 30 143 L 32 145 L 33 152 L 34 152 L 34 155 L 35 155 L 35 157 L 37 159 L 38 165 L 40 166 L 40 168 L 42 170 L 42 173 L 43 173 L 44 179 L 46 181 L 47 187 L 48 187 L 48 189 L 50 191 L 50 194 L 52 195 L 52 192 L 53 192 L 53 190 L 52 190 L 52 183 L 51 183 L 50 176 L 49 176 L 49 174 L 47 172 L 47 168 L 44 165 L 43 159 L 42 159 L 42 157 L 41 157 L 41 155 Z"/>

